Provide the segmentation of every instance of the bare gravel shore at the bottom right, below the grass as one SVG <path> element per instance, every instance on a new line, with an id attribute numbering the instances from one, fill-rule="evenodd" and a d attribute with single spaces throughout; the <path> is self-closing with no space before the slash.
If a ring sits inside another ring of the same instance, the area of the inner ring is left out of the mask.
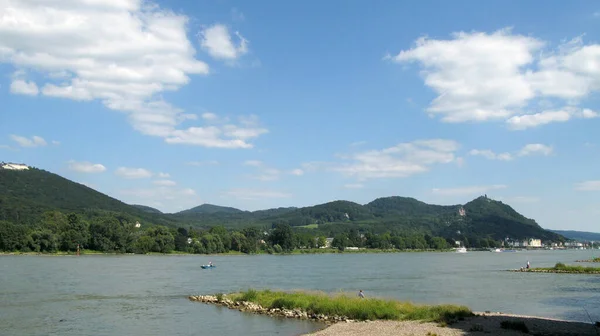
<path id="1" fill-rule="evenodd" d="M 599 336 L 600 328 L 590 323 L 569 322 L 533 316 L 501 313 L 478 313 L 478 316 L 458 321 L 448 326 L 418 321 L 371 321 L 336 323 L 311 336 L 462 336 L 462 335 L 526 335 L 521 331 L 503 329 L 502 321 L 522 321 L 529 335 L 548 336 Z"/>

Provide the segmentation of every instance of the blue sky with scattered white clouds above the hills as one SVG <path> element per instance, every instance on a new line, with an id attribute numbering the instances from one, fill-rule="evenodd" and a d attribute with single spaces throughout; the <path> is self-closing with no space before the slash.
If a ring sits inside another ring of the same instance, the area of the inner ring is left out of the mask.
<path id="1" fill-rule="evenodd" d="M 0 0 L 0 161 L 127 203 L 487 194 L 598 231 L 593 1 Z"/>

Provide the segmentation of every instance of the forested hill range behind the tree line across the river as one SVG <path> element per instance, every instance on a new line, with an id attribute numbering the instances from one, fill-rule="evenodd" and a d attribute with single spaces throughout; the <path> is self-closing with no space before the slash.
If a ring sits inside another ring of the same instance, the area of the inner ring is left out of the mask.
<path id="1" fill-rule="evenodd" d="M 512 207 L 485 196 L 464 205 L 427 204 L 409 197 L 383 197 L 367 204 L 334 201 L 302 208 L 275 208 L 243 211 L 203 204 L 175 214 L 129 205 L 56 174 L 29 170 L 0 169 L 0 221 L 35 224 L 47 211 L 79 213 L 93 217 L 96 212 L 112 212 L 133 217 L 145 224 L 169 227 L 227 228 L 261 227 L 287 224 L 298 230 L 312 230 L 326 236 L 356 230 L 372 233 L 431 234 L 452 239 L 564 240 L 544 230 L 534 220 Z M 464 210 L 464 213 L 462 211 Z"/>

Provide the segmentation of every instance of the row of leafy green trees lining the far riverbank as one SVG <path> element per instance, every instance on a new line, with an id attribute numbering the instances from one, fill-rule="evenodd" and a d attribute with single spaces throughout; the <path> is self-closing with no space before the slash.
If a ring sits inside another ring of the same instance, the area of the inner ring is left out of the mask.
<path id="1" fill-rule="evenodd" d="M 45 212 L 34 225 L 0 221 L 0 251 L 54 253 L 74 252 L 78 248 L 107 253 L 150 252 L 211 254 L 237 251 L 241 253 L 281 253 L 295 249 L 314 249 L 330 245 L 370 249 L 437 249 L 455 246 L 454 239 L 429 234 L 385 232 L 348 228 L 345 231 L 320 231 L 293 228 L 287 223 L 271 227 L 247 227 L 228 230 L 223 226 L 206 229 L 174 228 L 161 225 L 136 226 L 137 220 L 126 214 L 85 214 L 59 211 Z M 328 242 L 327 237 L 333 238 Z M 496 247 L 492 239 L 477 239 L 468 247 Z"/>

